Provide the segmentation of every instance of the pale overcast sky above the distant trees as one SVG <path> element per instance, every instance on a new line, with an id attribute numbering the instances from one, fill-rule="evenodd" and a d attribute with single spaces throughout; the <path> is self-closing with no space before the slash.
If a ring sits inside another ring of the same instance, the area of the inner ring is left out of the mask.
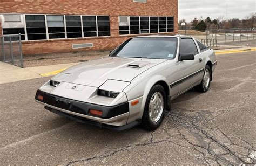
<path id="1" fill-rule="evenodd" d="M 255 0 L 178 0 L 179 20 L 185 18 L 190 22 L 195 16 L 212 19 L 218 16 L 225 18 L 245 18 L 256 12 Z"/>

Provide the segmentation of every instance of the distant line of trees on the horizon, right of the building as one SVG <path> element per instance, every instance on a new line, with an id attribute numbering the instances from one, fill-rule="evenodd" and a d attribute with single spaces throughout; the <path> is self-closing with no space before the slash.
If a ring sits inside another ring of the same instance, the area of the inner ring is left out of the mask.
<path id="1" fill-rule="evenodd" d="M 181 26 L 181 23 L 186 23 L 186 27 Z M 234 29 L 234 28 L 244 28 L 253 29 L 256 27 L 256 12 L 251 13 L 245 19 L 232 18 L 225 19 L 224 16 L 219 16 L 218 18 L 211 19 L 207 17 L 206 19 L 198 19 L 195 17 L 191 22 L 186 22 L 185 19 L 179 20 L 179 30 L 198 30 L 205 31 L 206 29 Z"/>

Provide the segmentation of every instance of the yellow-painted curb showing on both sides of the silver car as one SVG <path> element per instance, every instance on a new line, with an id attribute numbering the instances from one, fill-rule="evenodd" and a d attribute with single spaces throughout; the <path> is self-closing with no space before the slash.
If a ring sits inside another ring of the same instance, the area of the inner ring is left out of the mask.
<path id="1" fill-rule="evenodd" d="M 230 53 L 238 53 L 238 52 L 247 52 L 247 51 L 256 51 L 256 48 L 252 48 L 252 49 L 237 49 L 237 50 L 226 50 L 226 51 L 215 51 L 216 55 L 221 55 L 221 54 L 230 54 Z M 56 71 L 52 71 L 49 73 L 44 73 L 44 74 L 39 74 L 43 77 L 48 77 L 50 75 L 56 75 L 64 70 L 66 70 L 67 68 L 63 68 L 60 70 L 56 70 Z"/>

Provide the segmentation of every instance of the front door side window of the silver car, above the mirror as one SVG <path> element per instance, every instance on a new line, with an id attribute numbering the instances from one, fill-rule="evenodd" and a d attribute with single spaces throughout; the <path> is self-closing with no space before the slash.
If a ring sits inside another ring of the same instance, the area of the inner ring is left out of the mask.
<path id="1" fill-rule="evenodd" d="M 179 52 L 181 54 L 198 54 L 197 46 L 194 43 L 194 40 L 191 38 L 181 39 Z"/>

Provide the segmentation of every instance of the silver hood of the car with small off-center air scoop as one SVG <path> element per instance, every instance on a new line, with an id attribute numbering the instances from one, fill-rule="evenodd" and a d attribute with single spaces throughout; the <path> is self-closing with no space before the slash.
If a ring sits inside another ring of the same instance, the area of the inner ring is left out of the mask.
<path id="1" fill-rule="evenodd" d="M 105 57 L 68 68 L 62 72 L 69 74 L 63 81 L 93 87 L 99 87 L 109 79 L 130 82 L 140 73 L 164 61 L 166 60 Z"/>

